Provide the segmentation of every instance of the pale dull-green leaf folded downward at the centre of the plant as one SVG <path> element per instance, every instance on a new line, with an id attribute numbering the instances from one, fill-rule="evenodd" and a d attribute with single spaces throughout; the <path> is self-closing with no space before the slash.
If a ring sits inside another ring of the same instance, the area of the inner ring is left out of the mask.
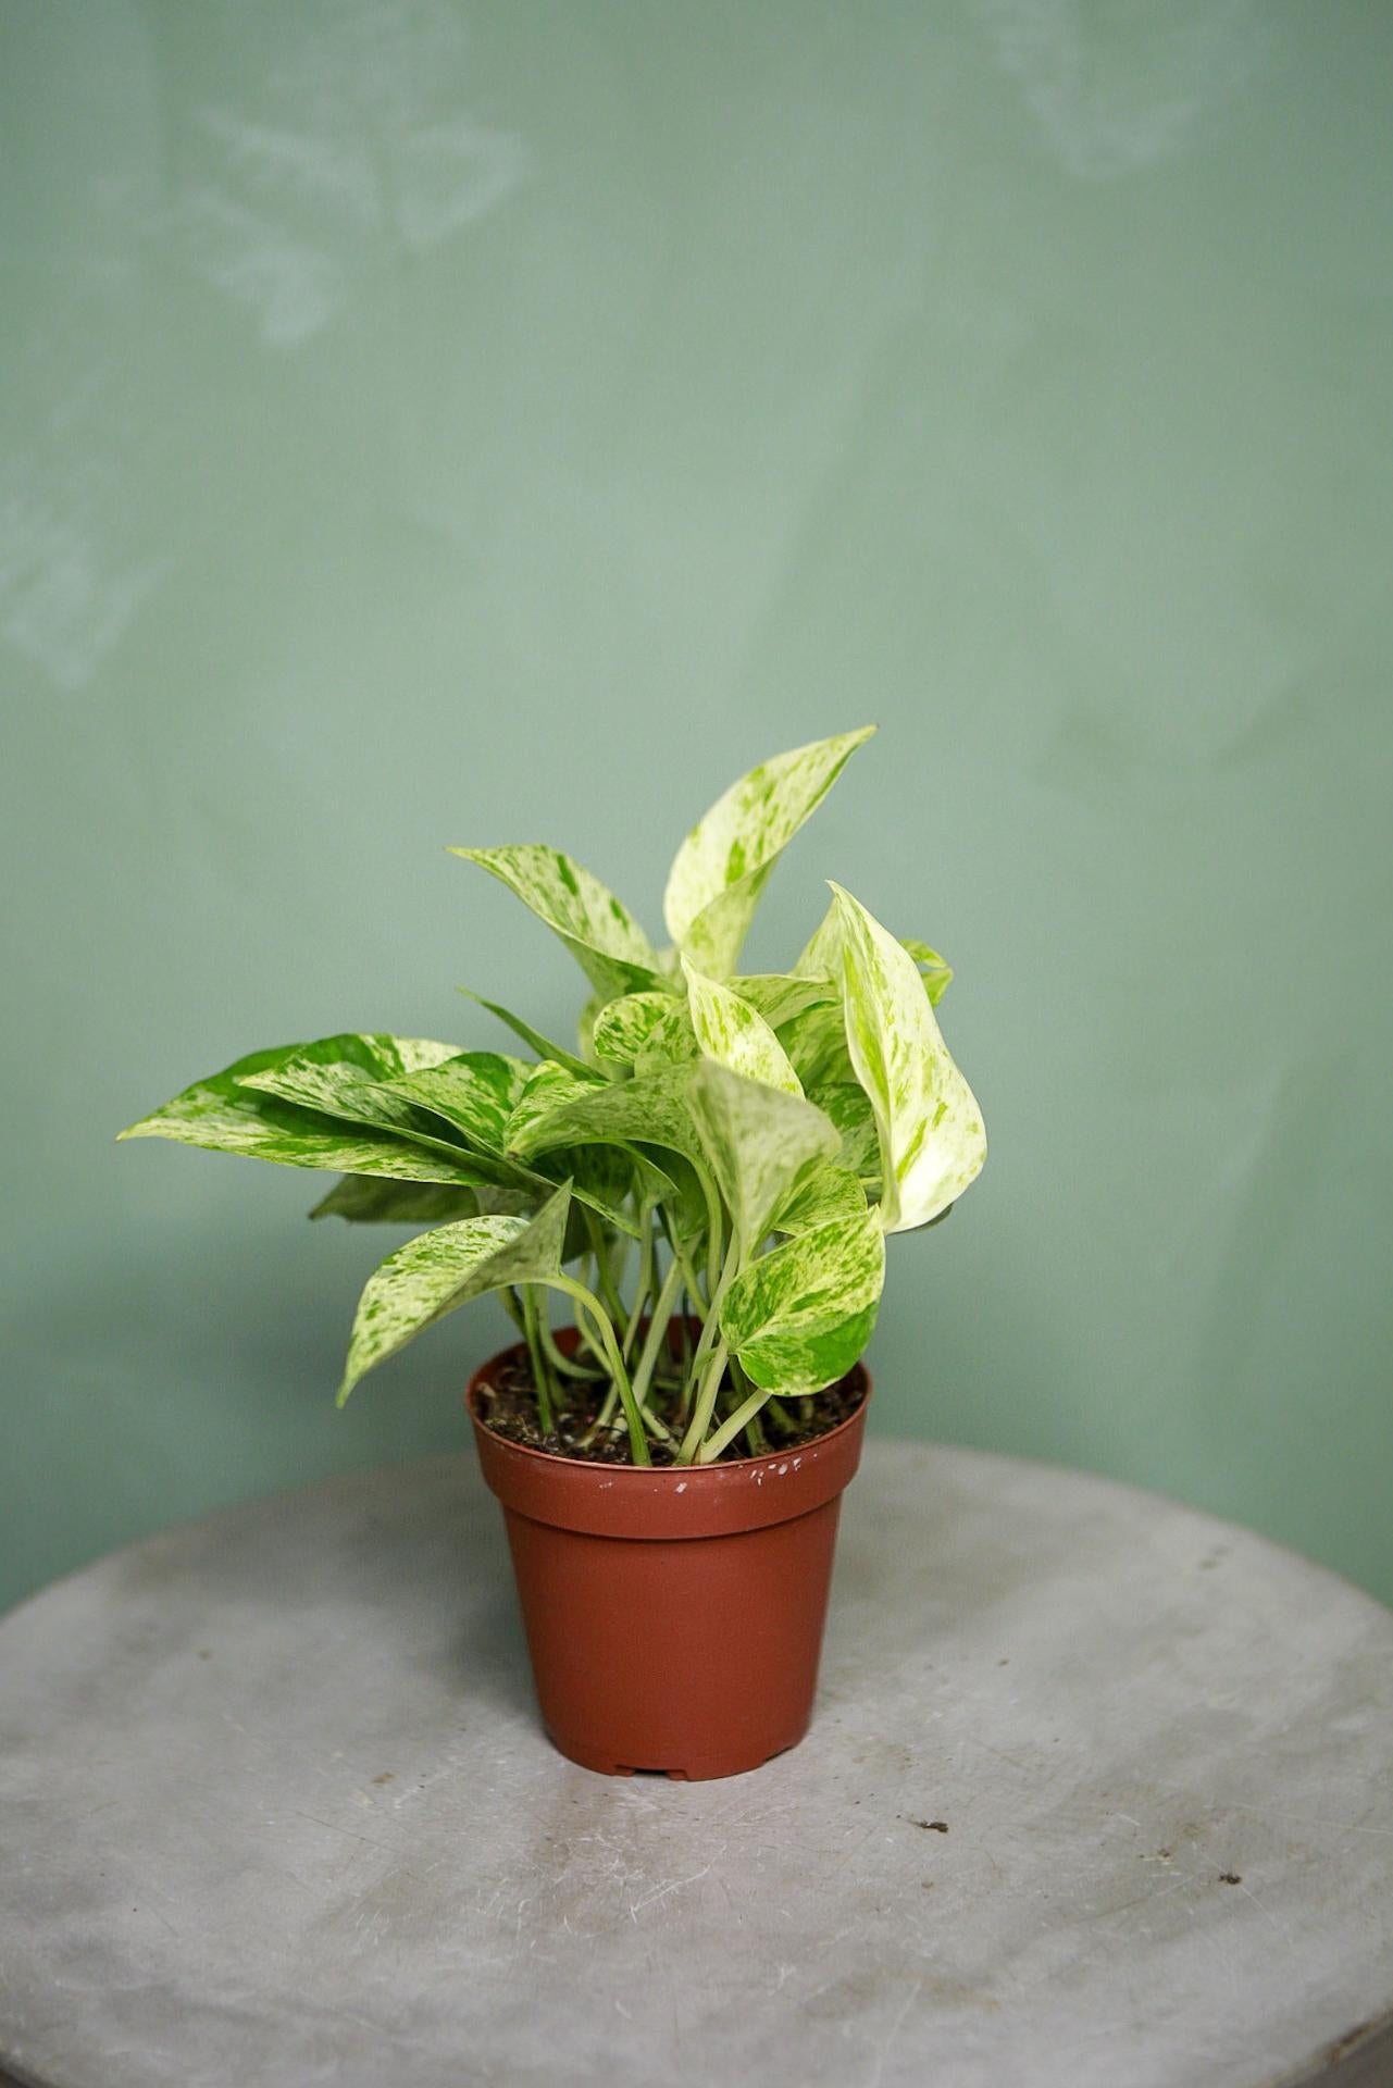
<path id="1" fill-rule="evenodd" d="M 633 1086 L 616 1092 L 631 1094 Z M 702 1059 L 693 1069 L 687 1111 L 735 1234 L 750 1255 L 769 1232 L 779 1205 L 819 1161 L 833 1159 L 837 1134 L 802 1094 L 746 1079 L 714 1059 Z"/>

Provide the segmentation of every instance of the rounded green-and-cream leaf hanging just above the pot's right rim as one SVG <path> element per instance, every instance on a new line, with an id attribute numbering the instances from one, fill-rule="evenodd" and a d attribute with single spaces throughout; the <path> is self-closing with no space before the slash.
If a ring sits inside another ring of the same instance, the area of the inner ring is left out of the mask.
<path id="1" fill-rule="evenodd" d="M 852 1368 L 875 1326 L 886 1236 L 873 1211 L 800 1232 L 735 1278 L 721 1332 L 754 1384 L 806 1395 Z"/>

